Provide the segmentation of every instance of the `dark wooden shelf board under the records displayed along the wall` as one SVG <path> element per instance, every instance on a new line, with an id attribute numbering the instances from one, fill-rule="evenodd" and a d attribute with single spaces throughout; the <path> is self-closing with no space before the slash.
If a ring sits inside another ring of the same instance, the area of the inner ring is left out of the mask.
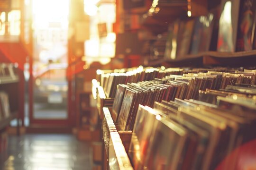
<path id="1" fill-rule="evenodd" d="M 184 66 L 188 63 L 190 66 L 198 65 L 228 65 L 228 66 L 240 66 L 243 63 L 244 66 L 255 65 L 256 63 L 256 50 L 252 51 L 239 51 L 239 52 L 218 52 L 207 51 L 198 54 L 189 54 L 183 57 L 177 57 L 176 59 L 159 59 L 148 63 L 148 66 L 159 65 L 171 65 L 171 66 Z"/>

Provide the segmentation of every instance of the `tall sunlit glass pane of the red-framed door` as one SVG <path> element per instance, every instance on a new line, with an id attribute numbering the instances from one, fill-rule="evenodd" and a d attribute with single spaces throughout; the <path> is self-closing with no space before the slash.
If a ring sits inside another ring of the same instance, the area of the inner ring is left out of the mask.
<path id="1" fill-rule="evenodd" d="M 33 111 L 30 111 L 30 124 L 66 125 L 69 118 L 66 76 L 69 0 L 32 0 L 32 13 Z"/>

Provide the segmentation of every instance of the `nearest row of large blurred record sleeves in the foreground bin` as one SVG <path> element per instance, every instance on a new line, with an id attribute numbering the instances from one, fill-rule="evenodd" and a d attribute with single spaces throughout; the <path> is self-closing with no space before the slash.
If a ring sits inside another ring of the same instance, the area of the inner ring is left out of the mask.
<path id="1" fill-rule="evenodd" d="M 128 155 L 135 170 L 244 169 L 256 159 L 250 151 L 255 127 L 255 99 L 219 97 L 217 105 L 175 99 L 155 102 L 154 109 L 139 105 Z"/>

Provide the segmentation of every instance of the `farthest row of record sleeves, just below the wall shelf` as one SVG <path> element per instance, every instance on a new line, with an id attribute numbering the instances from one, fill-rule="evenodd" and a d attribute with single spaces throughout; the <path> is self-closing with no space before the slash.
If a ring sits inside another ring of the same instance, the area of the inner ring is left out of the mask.
<path id="1" fill-rule="evenodd" d="M 208 73 L 207 73 L 208 72 Z M 220 81 L 221 77 L 224 77 L 223 82 L 221 82 L 222 87 L 227 85 L 232 85 L 234 81 L 246 82 L 252 81 L 254 84 L 256 79 L 254 73 L 250 70 L 244 70 L 241 68 L 129 68 L 115 70 L 115 72 L 98 74 L 98 81 L 101 82 L 105 94 L 109 98 L 114 98 L 117 91 L 117 85 L 127 84 L 127 83 L 137 83 L 141 81 L 150 81 L 154 79 L 161 79 L 169 75 L 180 75 L 180 78 L 184 74 L 188 74 L 188 77 L 192 74 L 198 74 L 203 76 L 212 76 Z M 203 75 L 203 73 L 205 73 Z M 230 74 L 229 74 L 230 73 Z M 187 76 L 187 75 L 185 75 Z M 246 78 L 246 76 L 254 76 L 254 78 Z M 183 78 L 184 81 L 185 78 Z M 222 79 L 221 79 L 222 81 Z M 225 81 L 225 82 L 224 82 Z M 231 82 L 230 82 L 231 81 Z M 219 82 L 220 83 L 220 82 Z M 249 82 L 250 83 L 250 82 Z M 218 86 L 213 87 L 214 89 L 219 89 Z"/>

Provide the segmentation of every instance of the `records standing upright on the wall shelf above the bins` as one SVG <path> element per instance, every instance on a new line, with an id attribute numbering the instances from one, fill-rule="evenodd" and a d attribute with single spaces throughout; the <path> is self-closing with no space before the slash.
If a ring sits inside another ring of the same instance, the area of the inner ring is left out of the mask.
<path id="1" fill-rule="evenodd" d="M 256 49 L 256 0 L 221 0 L 204 16 L 176 19 L 168 32 L 148 40 L 150 59 L 179 59 L 206 51 L 235 52 Z"/>

